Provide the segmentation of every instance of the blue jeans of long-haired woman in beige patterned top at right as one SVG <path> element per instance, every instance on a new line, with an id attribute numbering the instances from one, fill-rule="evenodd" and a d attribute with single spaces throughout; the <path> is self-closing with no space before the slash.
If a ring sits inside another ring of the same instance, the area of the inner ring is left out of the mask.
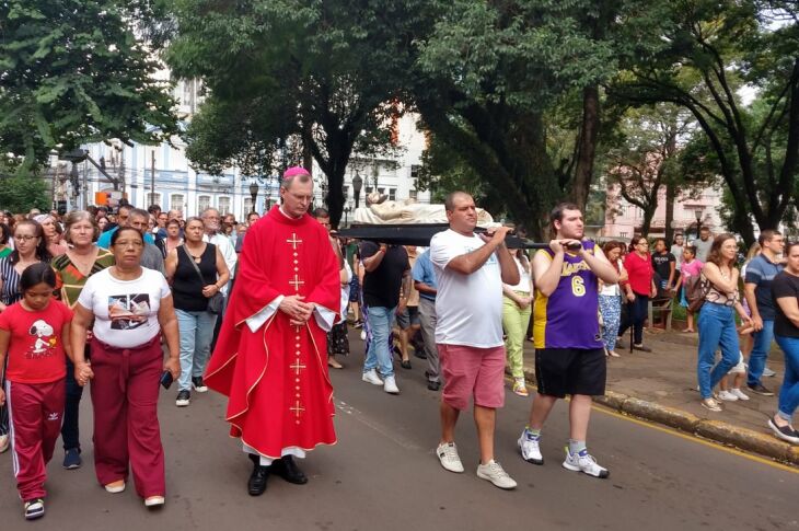
<path id="1" fill-rule="evenodd" d="M 713 396 L 713 388 L 738 363 L 740 346 L 732 307 L 705 302 L 699 310 L 699 356 L 696 377 L 703 399 Z M 716 349 L 721 347 L 721 360 L 716 363 Z M 716 366 L 714 367 L 714 363 Z"/>

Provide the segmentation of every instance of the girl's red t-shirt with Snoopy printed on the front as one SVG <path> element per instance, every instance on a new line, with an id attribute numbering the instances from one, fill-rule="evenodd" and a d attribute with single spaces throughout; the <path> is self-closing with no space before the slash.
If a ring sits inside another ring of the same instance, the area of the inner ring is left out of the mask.
<path id="1" fill-rule="evenodd" d="M 71 320 L 72 311 L 55 299 L 38 312 L 27 311 L 18 302 L 0 313 L 0 328 L 11 333 L 5 378 L 16 383 L 48 383 L 65 378 L 61 332 Z"/>

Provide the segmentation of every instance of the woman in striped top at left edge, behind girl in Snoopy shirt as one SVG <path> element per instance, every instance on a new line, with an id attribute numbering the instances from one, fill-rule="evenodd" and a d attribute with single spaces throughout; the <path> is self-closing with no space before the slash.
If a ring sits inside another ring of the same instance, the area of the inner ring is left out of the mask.
<path id="1" fill-rule="evenodd" d="M 22 298 L 20 292 L 20 276 L 30 265 L 38 262 L 49 262 L 42 226 L 36 221 L 24 219 L 14 226 L 14 241 L 16 246 L 4 258 L 0 258 L 0 312 Z M 3 371 L 4 372 L 4 371 Z M 4 385 L 5 382 L 3 381 Z M 0 452 L 9 447 L 9 412 L 5 406 L 0 407 Z"/>

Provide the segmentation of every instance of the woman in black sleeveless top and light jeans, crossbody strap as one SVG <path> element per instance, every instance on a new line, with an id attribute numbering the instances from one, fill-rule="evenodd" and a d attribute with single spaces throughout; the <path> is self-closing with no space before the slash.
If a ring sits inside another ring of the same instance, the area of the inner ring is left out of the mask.
<path id="1" fill-rule="evenodd" d="M 186 243 L 166 256 L 166 278 L 175 295 L 175 312 L 181 330 L 181 380 L 175 405 L 185 407 L 192 400 L 190 388 L 205 393 L 202 373 L 211 353 L 217 314 L 208 301 L 228 282 L 230 272 L 224 257 L 212 243 L 202 241 L 205 223 L 200 218 L 186 220 Z"/>

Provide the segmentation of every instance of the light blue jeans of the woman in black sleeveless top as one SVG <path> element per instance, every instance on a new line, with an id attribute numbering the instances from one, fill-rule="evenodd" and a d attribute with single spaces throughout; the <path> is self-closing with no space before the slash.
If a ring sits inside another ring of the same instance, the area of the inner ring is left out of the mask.
<path id="1" fill-rule="evenodd" d="M 176 308 L 175 315 L 181 332 L 181 378 L 177 379 L 177 390 L 188 391 L 192 388 L 192 378 L 201 377 L 206 370 L 217 315 Z"/>

